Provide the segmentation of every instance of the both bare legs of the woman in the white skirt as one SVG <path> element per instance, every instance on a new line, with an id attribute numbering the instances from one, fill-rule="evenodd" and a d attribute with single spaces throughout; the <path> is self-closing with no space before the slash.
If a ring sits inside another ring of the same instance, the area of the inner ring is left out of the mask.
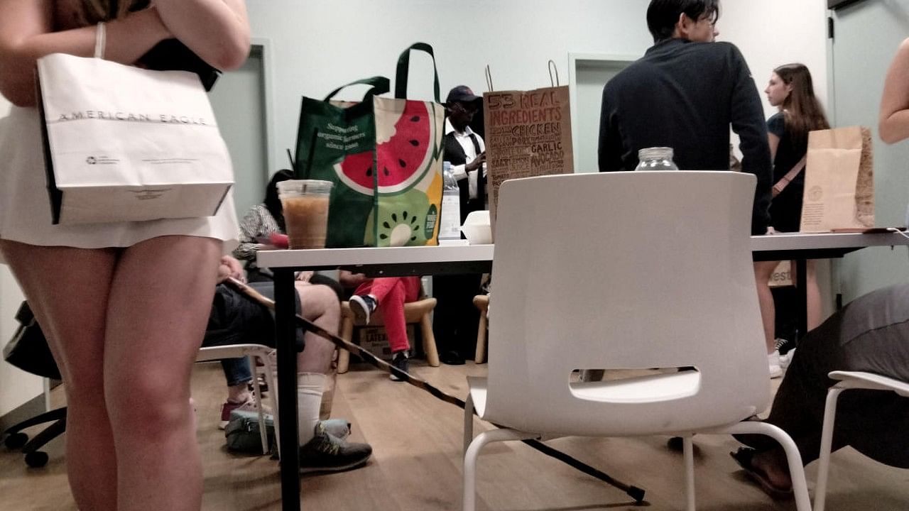
<path id="1" fill-rule="evenodd" d="M 0 242 L 64 375 L 80 509 L 199 509 L 189 375 L 220 245 L 189 236 L 122 250 Z"/>

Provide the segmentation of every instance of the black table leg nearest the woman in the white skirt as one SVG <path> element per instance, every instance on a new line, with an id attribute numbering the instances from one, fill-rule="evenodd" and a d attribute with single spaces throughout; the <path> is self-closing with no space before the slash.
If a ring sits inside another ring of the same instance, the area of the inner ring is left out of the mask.
<path id="1" fill-rule="evenodd" d="M 296 429 L 296 326 L 294 271 L 275 268 L 278 424 L 281 431 L 281 509 L 300 509 L 300 453 Z"/>

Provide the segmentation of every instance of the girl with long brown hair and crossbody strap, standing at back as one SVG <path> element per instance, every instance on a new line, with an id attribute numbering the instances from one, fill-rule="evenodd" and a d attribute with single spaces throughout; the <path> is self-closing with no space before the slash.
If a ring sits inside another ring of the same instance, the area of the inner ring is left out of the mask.
<path id="1" fill-rule="evenodd" d="M 774 69 L 764 94 L 770 105 L 779 110 L 767 120 L 770 154 L 774 160 L 774 189 L 779 192 L 770 205 L 771 225 L 775 231 L 797 232 L 802 219 L 804 170 L 794 176 L 789 173 L 797 165 L 802 165 L 801 160 L 808 151 L 808 132 L 828 129 L 830 124 L 814 95 L 811 73 L 802 64 L 781 65 Z M 782 373 L 778 346 L 774 340 L 774 296 L 767 285 L 777 264 L 779 261 L 754 265 L 772 376 Z M 792 268 L 795 268 L 794 262 Z M 821 324 L 821 294 L 813 260 L 807 261 L 806 269 L 807 326 L 808 330 L 812 330 Z M 804 332 L 799 334 L 804 335 Z"/>

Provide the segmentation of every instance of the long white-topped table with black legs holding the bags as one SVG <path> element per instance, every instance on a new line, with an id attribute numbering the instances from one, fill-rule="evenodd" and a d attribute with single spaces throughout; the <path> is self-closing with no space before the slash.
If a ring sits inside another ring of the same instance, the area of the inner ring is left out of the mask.
<path id="1" fill-rule="evenodd" d="M 695 234 L 696 235 L 696 234 Z M 752 236 L 755 261 L 842 257 L 865 246 L 909 245 L 898 233 L 781 234 Z M 296 346 L 294 272 L 343 267 L 367 276 L 423 276 L 488 272 L 494 245 L 405 246 L 390 248 L 326 248 L 258 253 L 256 264 L 275 272 L 275 324 L 278 358 L 278 422 L 281 428 L 282 509 L 300 509 L 300 471 L 296 430 Z M 804 291 L 804 263 L 798 286 Z M 804 307 L 804 299 L 802 300 Z M 804 323 L 804 308 L 800 317 Z M 800 330 L 804 332 L 804 324 Z"/>

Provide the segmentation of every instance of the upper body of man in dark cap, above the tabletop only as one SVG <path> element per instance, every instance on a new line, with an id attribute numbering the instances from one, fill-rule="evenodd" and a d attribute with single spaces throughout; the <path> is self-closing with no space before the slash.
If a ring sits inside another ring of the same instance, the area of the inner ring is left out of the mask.
<path id="1" fill-rule="evenodd" d="M 470 122 L 483 105 L 467 85 L 458 85 L 445 99 L 445 161 L 452 164 L 454 178 L 461 189 L 461 223 L 472 211 L 485 209 L 486 161 L 483 137 L 474 133 Z"/>

